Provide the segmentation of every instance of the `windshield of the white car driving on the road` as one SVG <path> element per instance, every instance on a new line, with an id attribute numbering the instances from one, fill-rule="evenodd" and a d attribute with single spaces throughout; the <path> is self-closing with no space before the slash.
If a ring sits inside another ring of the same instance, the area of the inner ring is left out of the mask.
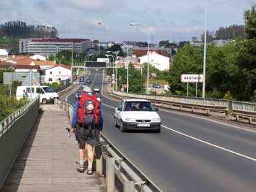
<path id="1" fill-rule="evenodd" d="M 127 101 L 124 111 L 153 111 L 153 107 L 148 101 Z"/>

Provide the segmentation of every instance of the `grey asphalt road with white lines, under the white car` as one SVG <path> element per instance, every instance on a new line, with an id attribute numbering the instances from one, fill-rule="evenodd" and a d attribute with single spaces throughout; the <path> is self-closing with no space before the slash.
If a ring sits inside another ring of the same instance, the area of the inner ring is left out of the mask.
<path id="1" fill-rule="evenodd" d="M 91 87 L 101 87 L 103 76 L 92 70 Z M 117 104 L 102 95 L 103 133 L 162 191 L 256 191 L 255 129 L 159 110 L 160 134 L 121 133 L 113 123 Z"/>

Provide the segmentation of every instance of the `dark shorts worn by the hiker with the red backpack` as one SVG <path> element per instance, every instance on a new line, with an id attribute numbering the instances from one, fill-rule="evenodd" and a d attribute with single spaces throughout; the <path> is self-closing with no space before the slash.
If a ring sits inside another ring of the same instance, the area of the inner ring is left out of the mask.
<path id="1" fill-rule="evenodd" d="M 78 140 L 78 145 L 89 144 L 92 146 L 99 146 L 99 128 L 96 126 L 91 129 L 91 136 L 88 137 L 88 129 L 77 126 L 75 129 L 75 137 Z"/>

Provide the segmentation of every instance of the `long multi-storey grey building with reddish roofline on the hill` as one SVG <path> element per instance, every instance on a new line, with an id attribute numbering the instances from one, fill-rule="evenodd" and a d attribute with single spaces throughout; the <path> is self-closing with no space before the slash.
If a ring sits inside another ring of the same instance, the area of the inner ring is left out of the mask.
<path id="1" fill-rule="evenodd" d="M 34 53 L 38 55 L 56 55 L 61 50 L 74 50 L 83 53 L 91 47 L 89 39 L 20 39 L 20 53 Z"/>

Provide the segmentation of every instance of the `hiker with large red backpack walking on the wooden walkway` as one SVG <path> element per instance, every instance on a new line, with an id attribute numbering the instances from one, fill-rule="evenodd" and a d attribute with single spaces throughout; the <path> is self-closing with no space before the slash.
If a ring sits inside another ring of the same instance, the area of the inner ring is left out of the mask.
<path id="1" fill-rule="evenodd" d="M 75 137 L 79 145 L 78 172 L 84 172 L 83 162 L 87 143 L 87 174 L 93 174 L 93 147 L 99 146 L 99 134 L 102 131 L 102 126 L 99 126 L 99 120 L 102 118 L 101 115 L 96 94 L 92 93 L 91 88 L 86 86 L 86 88 L 83 88 L 80 99 L 75 103 L 72 116 L 72 128 L 70 128 L 71 132 L 75 131 Z"/>

